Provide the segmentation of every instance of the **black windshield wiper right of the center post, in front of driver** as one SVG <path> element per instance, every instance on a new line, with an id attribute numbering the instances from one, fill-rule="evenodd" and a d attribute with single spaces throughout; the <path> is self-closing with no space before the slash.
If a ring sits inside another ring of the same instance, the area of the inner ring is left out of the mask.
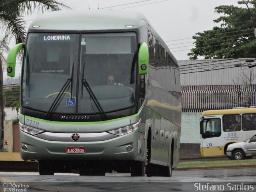
<path id="1" fill-rule="evenodd" d="M 85 63 L 84 63 L 84 66 L 85 66 Z M 97 98 L 95 97 L 94 93 L 92 92 L 92 89 L 90 88 L 88 82 L 84 78 L 84 67 L 83 67 L 83 74 L 82 74 L 82 99 L 83 99 L 83 88 L 84 88 L 83 86 L 86 88 L 88 94 L 90 95 L 90 98 L 92 98 L 94 104 L 98 108 L 100 115 L 102 116 L 102 118 L 105 119 L 107 116 L 106 116 L 104 110 L 100 106 L 100 103 L 98 102 Z"/>

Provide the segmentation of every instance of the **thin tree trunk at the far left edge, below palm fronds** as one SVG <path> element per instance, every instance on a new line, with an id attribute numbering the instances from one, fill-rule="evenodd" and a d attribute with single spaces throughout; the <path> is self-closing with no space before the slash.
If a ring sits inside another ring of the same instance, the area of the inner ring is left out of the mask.
<path id="1" fill-rule="evenodd" d="M 4 87 L 3 68 L 0 56 L 0 152 L 4 151 Z"/>

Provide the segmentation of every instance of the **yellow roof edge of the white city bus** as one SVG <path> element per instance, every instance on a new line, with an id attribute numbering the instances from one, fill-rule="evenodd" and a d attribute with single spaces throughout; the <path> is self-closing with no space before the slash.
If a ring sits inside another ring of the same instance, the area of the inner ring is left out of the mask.
<path id="1" fill-rule="evenodd" d="M 202 112 L 205 115 L 222 115 L 222 114 L 241 114 L 241 113 L 256 113 L 256 108 L 237 108 L 237 109 L 223 109 L 223 110 L 208 110 Z"/>

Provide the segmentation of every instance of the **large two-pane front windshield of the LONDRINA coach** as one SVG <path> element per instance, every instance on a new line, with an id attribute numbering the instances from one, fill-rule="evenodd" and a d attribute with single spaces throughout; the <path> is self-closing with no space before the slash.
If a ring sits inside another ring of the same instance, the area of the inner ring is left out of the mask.
<path id="1" fill-rule="evenodd" d="M 95 99 L 104 112 L 134 106 L 136 44 L 134 32 L 29 33 L 22 106 L 60 114 L 99 114 Z"/>

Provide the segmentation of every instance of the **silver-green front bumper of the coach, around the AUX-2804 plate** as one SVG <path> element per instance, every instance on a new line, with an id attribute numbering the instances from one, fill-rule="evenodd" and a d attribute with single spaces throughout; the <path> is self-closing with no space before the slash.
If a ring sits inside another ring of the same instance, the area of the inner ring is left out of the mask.
<path id="1" fill-rule="evenodd" d="M 46 140 L 20 130 L 20 144 L 24 160 L 136 160 L 138 130 L 107 140 L 82 142 Z M 131 151 L 126 149 L 128 145 L 133 146 Z M 84 146 L 85 153 L 68 154 L 66 146 Z"/>

